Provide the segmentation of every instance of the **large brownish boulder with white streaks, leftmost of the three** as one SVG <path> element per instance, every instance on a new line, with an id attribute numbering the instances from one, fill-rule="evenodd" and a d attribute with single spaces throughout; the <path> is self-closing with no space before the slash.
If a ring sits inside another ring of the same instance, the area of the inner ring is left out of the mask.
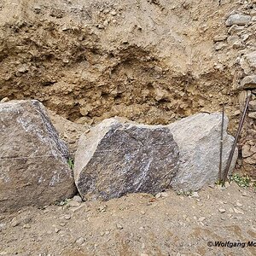
<path id="1" fill-rule="evenodd" d="M 38 101 L 0 104 L 0 212 L 44 206 L 76 191 L 67 146 Z"/>

